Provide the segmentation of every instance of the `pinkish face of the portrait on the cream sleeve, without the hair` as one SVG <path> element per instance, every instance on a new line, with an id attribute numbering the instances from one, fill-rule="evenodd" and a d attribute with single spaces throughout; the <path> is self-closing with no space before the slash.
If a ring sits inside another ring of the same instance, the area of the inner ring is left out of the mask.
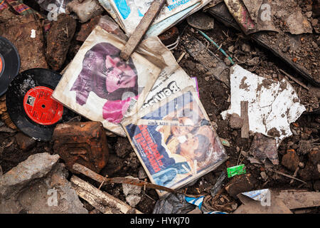
<path id="1" fill-rule="evenodd" d="M 135 86 L 136 73 L 119 57 L 112 58 L 107 56 L 105 66 L 107 68 L 106 86 L 109 93 L 118 88 L 132 88 Z"/>

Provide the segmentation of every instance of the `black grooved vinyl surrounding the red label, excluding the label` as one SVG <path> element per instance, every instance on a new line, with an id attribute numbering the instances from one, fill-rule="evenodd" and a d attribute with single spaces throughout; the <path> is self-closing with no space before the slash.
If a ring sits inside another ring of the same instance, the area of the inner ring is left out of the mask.
<path id="1" fill-rule="evenodd" d="M 58 85 L 61 75 L 55 71 L 44 68 L 33 68 L 18 74 L 11 82 L 6 92 L 6 108 L 14 124 L 26 135 L 41 141 L 50 141 L 53 130 L 58 123 L 63 123 L 74 117 L 75 113 L 65 107 L 63 114 L 58 122 L 50 125 L 43 125 L 31 120 L 26 113 L 25 97 L 26 93 L 34 90 L 33 88 L 50 88 L 55 89 Z M 52 98 L 44 102 L 52 103 Z"/>

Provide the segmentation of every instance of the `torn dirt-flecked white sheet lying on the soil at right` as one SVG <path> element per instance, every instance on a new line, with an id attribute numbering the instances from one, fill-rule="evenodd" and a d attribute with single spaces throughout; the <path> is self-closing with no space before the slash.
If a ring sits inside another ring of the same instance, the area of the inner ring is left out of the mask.
<path id="1" fill-rule="evenodd" d="M 249 129 L 277 140 L 292 135 L 290 123 L 306 110 L 294 88 L 286 80 L 273 81 L 246 71 L 239 65 L 230 68 L 231 104 L 221 113 L 241 115 L 241 101 L 248 101 Z"/>

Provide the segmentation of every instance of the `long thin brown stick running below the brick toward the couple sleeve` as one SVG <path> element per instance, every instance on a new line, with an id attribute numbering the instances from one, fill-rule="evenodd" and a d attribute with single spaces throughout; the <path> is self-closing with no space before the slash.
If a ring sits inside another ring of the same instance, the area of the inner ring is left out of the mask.
<path id="1" fill-rule="evenodd" d="M 92 180 L 95 180 L 99 183 L 101 183 L 102 186 L 104 185 L 108 185 L 108 184 L 127 184 L 127 185 L 136 185 L 139 187 L 148 187 L 154 190 L 162 190 L 162 191 L 166 191 L 166 192 L 171 192 L 171 193 L 176 193 L 176 194 L 184 194 L 183 192 L 179 192 L 176 190 L 172 190 L 169 187 L 164 187 L 161 185 L 154 185 L 151 184 L 149 182 L 145 182 L 142 180 L 137 180 L 137 179 L 133 179 L 133 178 L 127 178 L 127 177 L 113 177 L 113 178 L 107 178 L 107 177 L 103 177 L 102 175 L 97 174 L 96 172 L 93 172 L 92 170 L 88 169 L 87 167 L 75 163 L 73 165 L 73 170 L 80 172 L 81 174 L 90 177 Z M 195 195 L 187 195 L 190 197 L 195 197 Z"/>

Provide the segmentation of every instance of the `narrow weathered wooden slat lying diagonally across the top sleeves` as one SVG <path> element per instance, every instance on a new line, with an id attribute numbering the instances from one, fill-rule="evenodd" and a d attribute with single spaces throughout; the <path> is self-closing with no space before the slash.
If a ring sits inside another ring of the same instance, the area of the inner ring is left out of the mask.
<path id="1" fill-rule="evenodd" d="M 125 61 L 129 59 L 129 57 L 134 52 L 134 49 L 137 48 L 139 43 L 142 41 L 144 34 L 156 18 L 156 16 L 159 14 L 165 2 L 166 0 L 154 0 L 152 2 L 148 11 L 146 11 L 146 14 L 144 14 L 144 17 L 142 18 L 137 28 L 134 30 L 129 40 L 127 41 L 127 44 L 124 46 L 124 49 L 120 53 L 120 57 Z"/>

